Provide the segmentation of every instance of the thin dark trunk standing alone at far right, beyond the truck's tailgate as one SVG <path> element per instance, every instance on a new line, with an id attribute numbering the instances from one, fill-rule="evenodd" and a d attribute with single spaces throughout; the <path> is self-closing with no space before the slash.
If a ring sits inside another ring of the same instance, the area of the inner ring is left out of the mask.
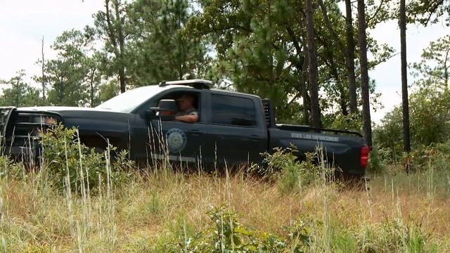
<path id="1" fill-rule="evenodd" d="M 400 0 L 400 57 L 401 57 L 401 101 L 403 109 L 403 150 L 411 151 L 409 138 L 409 103 L 408 103 L 408 79 L 406 70 L 406 8 L 405 0 Z M 409 172 L 409 160 L 405 161 L 406 172 Z"/>

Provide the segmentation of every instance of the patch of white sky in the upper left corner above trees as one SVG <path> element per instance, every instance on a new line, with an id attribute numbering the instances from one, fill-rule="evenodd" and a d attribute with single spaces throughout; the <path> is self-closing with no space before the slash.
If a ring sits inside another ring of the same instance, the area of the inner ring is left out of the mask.
<path id="1" fill-rule="evenodd" d="M 56 56 L 50 45 L 65 30 L 93 25 L 92 14 L 103 9 L 102 0 L 0 0 L 0 79 L 24 69 L 28 77 L 39 74 L 35 63 L 44 55 Z"/>

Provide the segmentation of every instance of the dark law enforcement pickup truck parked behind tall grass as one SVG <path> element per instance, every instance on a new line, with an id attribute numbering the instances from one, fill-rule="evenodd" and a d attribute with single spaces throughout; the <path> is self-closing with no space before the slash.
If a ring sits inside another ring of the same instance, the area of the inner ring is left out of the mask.
<path id="1" fill-rule="evenodd" d="M 322 145 L 328 160 L 345 174 L 364 176 L 369 149 L 361 134 L 276 124 L 269 100 L 211 87 L 205 80 L 162 82 L 127 91 L 96 108 L 0 108 L 0 146 L 7 155 L 31 157 L 39 144 L 30 140 L 42 128 L 61 122 L 77 126 L 86 145 L 105 148 L 109 140 L 129 150 L 134 160 L 259 163 L 261 153 L 276 147 L 293 144 L 306 153 Z M 198 122 L 160 116 L 160 101 L 175 103 L 181 95 L 195 98 Z"/>

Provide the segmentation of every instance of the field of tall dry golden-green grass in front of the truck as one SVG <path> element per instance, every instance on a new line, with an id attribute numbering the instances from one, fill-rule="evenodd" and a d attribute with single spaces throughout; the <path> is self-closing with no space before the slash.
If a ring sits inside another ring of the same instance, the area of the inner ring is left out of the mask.
<path id="1" fill-rule="evenodd" d="M 320 180 L 281 190 L 283 176 L 245 168 L 214 176 L 160 167 L 122 172 L 119 183 L 107 173 L 77 192 L 56 187 L 46 168 L 1 162 L 3 252 L 450 251 L 442 169 L 390 167 L 370 175 L 366 191 Z"/>

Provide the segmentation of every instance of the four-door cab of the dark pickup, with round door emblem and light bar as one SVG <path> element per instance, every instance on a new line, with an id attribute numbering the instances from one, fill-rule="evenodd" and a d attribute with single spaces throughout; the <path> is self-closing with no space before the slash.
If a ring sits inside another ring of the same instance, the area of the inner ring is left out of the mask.
<path id="1" fill-rule="evenodd" d="M 146 120 L 140 131 L 150 129 L 150 157 L 169 155 L 170 160 L 206 164 L 260 162 L 259 154 L 267 150 L 269 141 L 259 97 L 197 84 L 180 86 L 172 82 L 160 86 L 170 89 L 156 94 L 134 112 Z M 186 94 L 195 98 L 198 122 L 158 117 L 158 109 L 164 109 L 157 107 L 161 100 L 176 100 Z"/>

